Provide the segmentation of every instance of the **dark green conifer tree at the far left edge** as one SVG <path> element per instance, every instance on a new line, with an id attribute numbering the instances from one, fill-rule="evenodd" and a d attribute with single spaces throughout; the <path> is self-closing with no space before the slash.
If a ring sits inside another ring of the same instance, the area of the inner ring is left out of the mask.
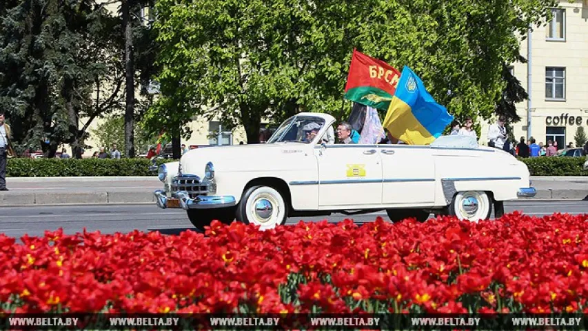
<path id="1" fill-rule="evenodd" d="M 116 17 L 94 0 L 6 0 L 0 21 L 0 107 L 17 150 L 42 148 L 53 157 L 70 143 L 81 157 L 92 120 L 119 104 Z"/>

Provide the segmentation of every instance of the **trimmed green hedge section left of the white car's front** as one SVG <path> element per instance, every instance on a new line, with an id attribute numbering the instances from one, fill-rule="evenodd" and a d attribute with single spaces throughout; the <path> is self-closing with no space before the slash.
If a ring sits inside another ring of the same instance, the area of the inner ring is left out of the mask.
<path id="1" fill-rule="evenodd" d="M 8 159 L 6 177 L 154 176 L 150 165 L 148 159 Z"/>

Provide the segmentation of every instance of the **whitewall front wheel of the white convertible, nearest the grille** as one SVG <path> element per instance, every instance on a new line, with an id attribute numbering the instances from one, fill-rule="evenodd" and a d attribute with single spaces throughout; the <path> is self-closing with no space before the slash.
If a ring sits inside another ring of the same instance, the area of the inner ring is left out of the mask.
<path id="1" fill-rule="evenodd" d="M 237 206 L 236 217 L 245 224 L 259 225 L 260 230 L 286 223 L 288 206 L 282 194 L 270 186 L 248 188 Z"/>

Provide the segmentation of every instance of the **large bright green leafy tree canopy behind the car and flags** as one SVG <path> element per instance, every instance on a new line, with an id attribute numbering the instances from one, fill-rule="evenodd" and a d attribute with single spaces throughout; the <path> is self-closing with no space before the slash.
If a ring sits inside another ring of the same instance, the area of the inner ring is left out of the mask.
<path id="1" fill-rule="evenodd" d="M 517 34 L 554 0 L 159 0 L 162 98 L 154 132 L 189 135 L 194 116 L 243 124 L 256 142 L 262 118 L 301 110 L 347 114 L 353 48 L 399 70 L 410 66 L 456 117 L 491 117 L 505 90 Z"/>

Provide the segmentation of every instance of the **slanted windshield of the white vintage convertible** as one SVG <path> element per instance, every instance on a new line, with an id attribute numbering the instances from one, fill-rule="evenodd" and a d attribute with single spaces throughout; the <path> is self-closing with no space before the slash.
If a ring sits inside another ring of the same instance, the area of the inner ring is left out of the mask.
<path id="1" fill-rule="evenodd" d="M 324 125 L 325 120 L 320 117 L 290 117 L 274 132 L 267 143 L 283 143 L 285 141 L 310 143 Z"/>

